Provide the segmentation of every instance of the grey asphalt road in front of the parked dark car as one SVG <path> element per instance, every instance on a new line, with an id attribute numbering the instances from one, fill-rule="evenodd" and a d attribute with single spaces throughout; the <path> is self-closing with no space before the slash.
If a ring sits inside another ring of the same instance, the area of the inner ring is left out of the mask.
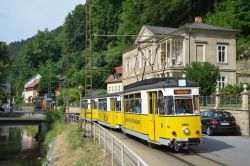
<path id="1" fill-rule="evenodd" d="M 250 165 L 250 138 L 241 136 L 204 136 L 205 144 L 193 151 L 224 165 Z"/>

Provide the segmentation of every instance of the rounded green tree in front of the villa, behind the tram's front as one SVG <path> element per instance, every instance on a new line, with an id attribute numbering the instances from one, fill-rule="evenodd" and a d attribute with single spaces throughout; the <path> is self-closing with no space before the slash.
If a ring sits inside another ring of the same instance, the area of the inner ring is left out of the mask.
<path id="1" fill-rule="evenodd" d="M 219 68 L 208 62 L 192 62 L 191 66 L 184 68 L 186 77 L 190 81 L 197 82 L 201 95 L 211 95 L 216 87 L 219 77 Z"/>

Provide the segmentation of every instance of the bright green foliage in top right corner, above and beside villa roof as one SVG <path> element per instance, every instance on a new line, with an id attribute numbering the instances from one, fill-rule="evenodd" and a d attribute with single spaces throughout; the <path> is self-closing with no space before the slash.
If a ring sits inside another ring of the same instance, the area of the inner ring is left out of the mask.
<path id="1" fill-rule="evenodd" d="M 205 17 L 205 22 L 239 30 L 237 35 L 237 55 L 250 45 L 250 1 L 224 0 L 215 4 L 215 11 Z"/>

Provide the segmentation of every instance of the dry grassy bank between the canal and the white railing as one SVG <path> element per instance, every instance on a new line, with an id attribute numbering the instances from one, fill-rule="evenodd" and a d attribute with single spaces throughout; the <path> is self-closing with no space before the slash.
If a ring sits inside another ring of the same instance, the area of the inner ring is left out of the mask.
<path id="1" fill-rule="evenodd" d="M 56 121 L 48 132 L 45 144 L 54 139 L 57 143 L 52 150 L 51 156 L 56 159 L 53 165 L 72 166 L 105 166 L 109 165 L 105 159 L 102 149 L 91 139 L 81 139 L 82 131 L 76 124 L 65 124 L 63 121 Z M 43 165 L 48 162 L 44 160 Z"/>

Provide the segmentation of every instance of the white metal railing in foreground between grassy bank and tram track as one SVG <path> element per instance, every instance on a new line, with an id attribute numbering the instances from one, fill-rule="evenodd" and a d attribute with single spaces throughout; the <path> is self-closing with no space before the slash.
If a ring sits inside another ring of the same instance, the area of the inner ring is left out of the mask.
<path id="1" fill-rule="evenodd" d="M 94 123 L 93 136 L 94 141 L 98 141 L 99 146 L 104 147 L 104 153 L 108 153 L 111 156 L 112 166 L 148 166 L 137 154 L 135 154 L 130 148 L 113 136 L 109 131 Z"/>

